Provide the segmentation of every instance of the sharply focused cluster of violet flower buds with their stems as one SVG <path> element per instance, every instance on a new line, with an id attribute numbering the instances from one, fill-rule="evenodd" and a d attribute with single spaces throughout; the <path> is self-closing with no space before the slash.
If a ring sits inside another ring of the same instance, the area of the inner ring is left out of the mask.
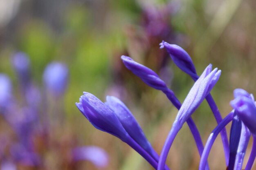
<path id="1" fill-rule="evenodd" d="M 148 86 L 162 91 L 178 109 L 176 119 L 166 138 L 160 156 L 157 155 L 146 139 L 135 117 L 125 104 L 116 97 L 108 96 L 106 102 L 103 103 L 94 95 L 84 92 L 80 97 L 79 103 L 76 103 L 81 113 L 95 128 L 108 132 L 131 146 L 156 170 L 169 169 L 166 166 L 168 152 L 177 133 L 185 122 L 189 125 L 201 157 L 199 170 L 210 169 L 207 158 L 219 133 L 222 137 L 227 170 L 242 170 L 245 151 L 252 135 L 254 139 L 252 152 L 245 167 L 245 170 L 251 170 L 256 157 L 256 104 L 253 95 L 243 89 L 236 89 L 234 91 L 234 100 L 230 102 L 234 110 L 231 110 L 222 119 L 218 107 L 210 94 L 212 88 L 218 82 L 221 71 L 218 68 L 212 70 L 212 65 L 209 64 L 199 76 L 191 57 L 180 46 L 168 44 L 163 41 L 160 43 L 160 48 L 165 48 L 173 62 L 195 81 L 183 104 L 180 103 L 174 92 L 167 87 L 166 83 L 160 79 L 157 73 L 135 62 L 130 57 L 121 56 L 121 60 L 126 68 L 132 71 L 132 73 L 138 76 Z M 204 99 L 207 100 L 217 121 L 217 126 L 209 135 L 209 139 L 205 145 L 202 143 L 198 128 L 191 118 L 191 115 Z M 229 122 L 232 122 L 232 124 L 228 140 L 225 127 Z"/>

